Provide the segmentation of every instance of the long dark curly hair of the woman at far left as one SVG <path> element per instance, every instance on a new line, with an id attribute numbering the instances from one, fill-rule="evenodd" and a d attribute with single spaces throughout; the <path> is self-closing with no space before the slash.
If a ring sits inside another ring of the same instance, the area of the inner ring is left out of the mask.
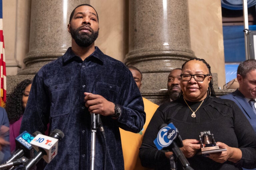
<path id="1" fill-rule="evenodd" d="M 5 110 L 10 124 L 18 121 L 24 114 L 25 109 L 22 106 L 22 97 L 25 88 L 31 83 L 31 80 L 25 79 L 13 88 L 12 93 L 7 95 Z"/>

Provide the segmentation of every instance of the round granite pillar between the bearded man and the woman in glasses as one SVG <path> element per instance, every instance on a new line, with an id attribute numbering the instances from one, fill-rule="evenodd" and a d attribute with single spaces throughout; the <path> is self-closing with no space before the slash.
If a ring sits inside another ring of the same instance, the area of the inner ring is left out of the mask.
<path id="1" fill-rule="evenodd" d="M 194 57 L 187 0 L 130 0 L 126 65 L 143 73 L 142 96 L 156 104 L 168 97 L 170 70 Z"/>

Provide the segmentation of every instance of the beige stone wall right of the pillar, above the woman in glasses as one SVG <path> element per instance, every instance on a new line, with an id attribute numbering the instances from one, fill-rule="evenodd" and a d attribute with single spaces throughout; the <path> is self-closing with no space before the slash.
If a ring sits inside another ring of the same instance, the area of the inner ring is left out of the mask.
<path id="1" fill-rule="evenodd" d="M 212 73 L 218 74 L 218 86 L 225 84 L 225 61 L 221 2 L 188 0 L 191 49 L 205 59 Z"/>

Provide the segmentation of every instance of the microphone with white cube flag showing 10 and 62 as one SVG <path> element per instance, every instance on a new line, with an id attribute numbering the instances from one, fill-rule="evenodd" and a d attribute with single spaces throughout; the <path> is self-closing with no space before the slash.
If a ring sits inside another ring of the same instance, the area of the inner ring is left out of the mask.
<path id="1" fill-rule="evenodd" d="M 37 162 L 43 158 L 45 162 L 49 163 L 58 153 L 58 140 L 64 137 L 64 133 L 55 129 L 49 136 L 38 134 L 30 143 L 36 151 L 36 155 L 29 159 L 25 164 L 25 170 L 33 168 Z"/>

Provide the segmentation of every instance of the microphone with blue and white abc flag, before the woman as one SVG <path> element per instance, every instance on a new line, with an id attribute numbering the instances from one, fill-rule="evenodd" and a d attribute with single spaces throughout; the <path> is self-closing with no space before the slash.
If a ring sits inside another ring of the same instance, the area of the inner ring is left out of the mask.
<path id="1" fill-rule="evenodd" d="M 164 124 L 164 126 L 161 125 L 160 127 L 161 129 L 157 134 L 157 138 L 154 140 L 157 149 L 163 152 L 172 151 L 175 158 L 178 158 L 180 165 L 184 170 L 193 170 L 180 150 L 180 147 L 183 147 L 183 143 L 178 129 L 173 123 L 170 123 L 167 126 Z"/>

